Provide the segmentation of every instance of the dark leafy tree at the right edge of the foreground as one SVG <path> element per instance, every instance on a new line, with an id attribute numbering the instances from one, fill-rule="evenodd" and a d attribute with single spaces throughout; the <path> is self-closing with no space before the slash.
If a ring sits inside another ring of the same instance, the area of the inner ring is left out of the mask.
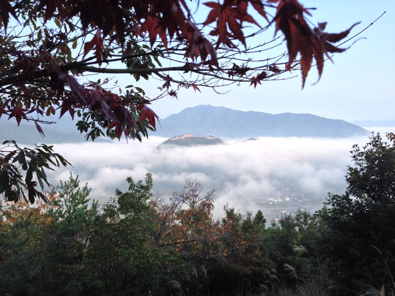
<path id="1" fill-rule="evenodd" d="M 392 133 L 387 137 L 389 143 L 372 134 L 366 145 L 353 146 L 346 193 L 329 195 L 329 212 L 321 212 L 323 251 L 337 258 L 333 275 L 351 290 L 368 284 L 377 290 L 393 287 L 395 142 Z"/>

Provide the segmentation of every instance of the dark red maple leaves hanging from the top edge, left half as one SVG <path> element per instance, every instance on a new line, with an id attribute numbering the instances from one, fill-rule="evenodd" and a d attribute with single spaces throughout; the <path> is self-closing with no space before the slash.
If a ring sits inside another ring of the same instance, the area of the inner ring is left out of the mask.
<path id="1" fill-rule="evenodd" d="M 17 18 L 12 0 L 0 0 L 0 12 L 4 26 L 7 27 L 9 14 Z M 147 32 L 151 45 L 159 36 L 167 47 L 167 42 L 177 35 L 183 39 L 187 47 L 205 60 L 211 55 L 214 65 L 216 52 L 213 45 L 201 34 L 193 22 L 190 21 L 189 8 L 185 0 L 145 0 L 145 1 L 113 1 L 113 0 L 39 0 L 36 11 L 45 11 L 45 21 L 56 16 L 61 21 L 79 16 L 83 30 L 86 32 L 92 25 L 102 30 L 94 36 L 92 41 L 84 47 L 86 55 L 96 45 L 96 57 L 101 62 L 102 42 L 112 30 L 115 39 L 124 45 L 126 34 L 130 31 L 128 24 L 137 24 L 138 30 L 134 34 Z M 184 11 L 187 11 L 185 15 Z"/>

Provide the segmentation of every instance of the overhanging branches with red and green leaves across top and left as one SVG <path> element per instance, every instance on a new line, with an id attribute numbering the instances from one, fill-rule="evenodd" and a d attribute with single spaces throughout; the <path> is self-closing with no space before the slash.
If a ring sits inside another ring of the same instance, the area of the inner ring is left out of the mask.
<path id="1" fill-rule="evenodd" d="M 325 24 L 310 28 L 305 20 L 310 13 L 297 0 L 198 3 L 198 9 L 209 9 L 202 20 L 195 19 L 198 14 L 190 5 L 185 0 L 0 0 L 0 116 L 15 118 L 18 125 L 33 121 L 44 135 L 41 126 L 53 123 L 48 116 L 74 119 L 77 114 L 76 125 L 87 139 L 125 136 L 141 141 L 159 119 L 148 107 L 152 101 L 177 97 L 181 87 L 195 92 L 241 82 L 256 87 L 299 68 L 304 85 L 313 57 L 321 75 L 328 52 L 344 51 L 331 42 L 351 29 L 327 34 Z M 256 58 L 281 38 L 260 40 L 271 24 L 284 34 L 288 60 L 285 53 Z M 136 82 L 156 77 L 164 83 L 150 97 L 137 86 L 124 91 L 117 82 L 109 88 L 108 78 L 93 81 L 97 73 L 128 73 Z M 37 149 L 41 157 L 43 150 Z M 29 155 L 18 146 L 11 156 L 1 152 L 0 193 L 11 200 L 22 189 L 30 190 L 31 200 L 40 195 L 29 172 L 38 174 L 42 187 L 43 168 L 60 166 L 60 155 L 52 147 L 44 150 L 47 155 L 38 165 L 25 162 L 24 155 Z M 19 166 L 13 165 L 17 161 Z M 21 170 L 29 173 L 24 181 Z"/>

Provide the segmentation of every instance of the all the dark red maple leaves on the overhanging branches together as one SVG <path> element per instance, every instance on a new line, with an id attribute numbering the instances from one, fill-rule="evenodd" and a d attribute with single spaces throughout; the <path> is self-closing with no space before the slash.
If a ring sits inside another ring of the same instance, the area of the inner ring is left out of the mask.
<path id="1" fill-rule="evenodd" d="M 17 18 L 16 11 L 19 4 L 14 2 L 13 0 L 0 0 L 0 15 L 5 28 L 8 26 L 10 15 Z M 300 53 L 304 86 L 313 57 L 316 60 L 318 74 L 321 76 L 324 66 L 324 54 L 344 51 L 344 49 L 339 49 L 331 43 L 346 37 L 355 24 L 340 34 L 327 34 L 323 32 L 326 23 L 320 23 L 318 28 L 315 29 L 311 29 L 307 25 L 304 14 L 310 15 L 310 13 L 297 0 L 269 0 L 268 2 L 278 2 L 277 13 L 272 22 L 276 22 L 276 32 L 281 30 L 287 40 L 289 60 L 285 69 L 292 69 L 291 65 L 295 61 L 297 54 Z M 217 48 L 221 44 L 227 47 L 236 47 L 235 40 L 246 45 L 243 34 L 244 22 L 260 27 L 258 22 L 248 14 L 248 7 L 252 7 L 262 17 L 267 19 L 262 0 L 212 1 L 206 2 L 205 6 L 210 7 L 211 11 L 203 25 L 209 26 L 215 23 L 210 35 L 218 36 Z M 166 48 L 169 41 L 177 39 L 177 42 L 184 44 L 186 56 L 190 56 L 192 59 L 200 56 L 205 66 L 218 66 L 216 49 L 201 30 L 198 29 L 196 24 L 191 21 L 190 9 L 185 0 L 38 0 L 34 10 L 36 12 L 45 10 L 45 21 L 53 17 L 60 19 L 60 21 L 67 21 L 67 19 L 78 16 L 81 19 L 82 29 L 85 32 L 92 27 L 97 28 L 92 40 L 84 45 L 83 58 L 94 49 L 96 60 L 99 64 L 102 63 L 104 38 L 110 36 L 110 43 L 116 41 L 124 49 L 126 36 L 132 33 L 135 36 L 147 34 L 151 46 L 154 45 L 158 37 Z M 111 35 L 111 32 L 115 32 L 115 34 Z M 64 36 L 56 38 L 57 40 L 62 40 Z M 58 99 L 62 97 L 60 116 L 69 112 L 71 117 L 73 117 L 75 108 L 89 107 L 91 111 L 101 112 L 106 116 L 110 121 L 111 128 L 115 127 L 118 137 L 122 135 L 122 132 L 126 134 L 127 127 L 132 129 L 136 127 L 134 117 L 123 104 L 118 102 L 118 96 L 99 88 L 93 90 L 84 88 L 73 76 L 66 72 L 70 69 L 54 66 L 54 63 L 48 66 L 51 62 L 51 57 L 46 52 L 43 52 L 43 57 L 40 60 L 34 60 L 23 52 L 16 54 L 18 56 L 16 71 L 19 71 L 19 75 L 16 78 L 9 78 L 13 79 L 12 81 L 3 79 L 2 85 L 7 83 L 22 85 L 23 79 L 26 79 L 26 77 L 29 77 L 30 80 L 34 80 L 37 76 L 50 77 L 51 81 L 49 83 L 54 90 L 51 96 L 56 96 Z M 209 56 L 210 59 L 208 59 Z M 139 67 L 146 67 L 146 65 L 142 64 Z M 186 71 L 188 71 L 187 68 Z M 227 74 L 228 77 L 233 77 L 234 75 L 242 77 L 246 75 L 248 70 L 247 67 L 233 64 L 233 68 Z M 271 66 L 268 70 L 274 73 L 280 72 L 280 69 L 276 66 Z M 142 75 L 149 75 L 149 73 Z M 250 85 L 256 87 L 257 84 L 261 84 L 260 81 L 265 79 L 265 77 L 267 77 L 267 72 L 259 73 L 252 77 Z M 71 96 L 64 96 L 66 84 L 71 90 Z M 166 88 L 170 96 L 177 97 L 175 91 L 168 90 L 169 85 L 170 79 L 165 79 L 162 89 Z M 196 85 L 193 88 L 195 91 L 199 90 Z M 3 109 L 9 108 L 9 106 L 1 107 Z M 158 119 L 158 116 L 145 105 L 139 107 L 139 110 L 143 112 L 141 118 L 147 118 L 152 127 L 155 128 L 155 118 Z M 21 118 L 26 118 L 26 112 L 31 111 L 16 108 L 12 111 L 8 110 L 8 112 L 10 117 L 17 118 L 19 124 Z M 41 111 L 37 110 L 37 112 Z M 50 112 L 53 112 L 53 110 Z M 41 127 L 37 125 L 37 128 L 42 133 Z"/>

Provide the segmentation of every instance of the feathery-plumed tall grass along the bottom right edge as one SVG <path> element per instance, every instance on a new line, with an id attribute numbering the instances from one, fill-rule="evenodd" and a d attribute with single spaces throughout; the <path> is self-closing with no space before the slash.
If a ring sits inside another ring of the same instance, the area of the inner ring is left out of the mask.
<path id="1" fill-rule="evenodd" d="M 259 289 L 252 290 L 248 279 L 240 279 L 237 290 L 232 292 L 235 296 L 333 296 L 333 295 L 353 295 L 353 296 L 395 296 L 395 281 L 387 263 L 384 262 L 383 278 L 377 282 L 366 273 L 363 283 L 358 290 L 345 290 L 340 287 L 329 276 L 330 265 L 321 256 L 308 255 L 308 251 L 303 246 L 294 246 L 293 251 L 299 255 L 306 255 L 308 264 L 302 264 L 298 270 L 290 264 L 284 264 L 284 273 L 288 278 L 279 276 L 275 270 L 266 270 L 263 274 L 265 279 L 260 284 Z M 380 253 L 379 250 L 376 250 Z M 363 260 L 363 258 L 361 258 Z M 284 275 L 284 273 L 282 275 Z M 197 269 L 192 266 L 189 270 L 184 270 L 182 283 L 171 281 L 169 286 L 177 296 L 216 296 L 224 293 L 210 294 L 207 281 L 207 270 L 202 266 Z M 341 288 L 341 289 L 340 289 Z M 340 293 L 340 294 L 339 294 Z"/>

